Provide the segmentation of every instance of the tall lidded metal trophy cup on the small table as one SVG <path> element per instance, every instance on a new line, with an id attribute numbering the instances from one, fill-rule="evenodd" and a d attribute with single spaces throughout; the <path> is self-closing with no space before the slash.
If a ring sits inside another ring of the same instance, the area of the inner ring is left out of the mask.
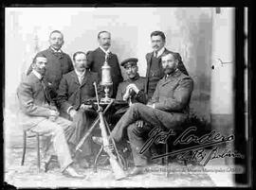
<path id="1" fill-rule="evenodd" d="M 109 91 L 113 82 L 111 78 L 111 67 L 107 63 L 108 58 L 109 54 L 106 54 L 104 64 L 101 67 L 101 86 L 104 87 L 105 92 L 105 96 L 101 98 L 101 103 L 109 103 L 111 101 Z"/>

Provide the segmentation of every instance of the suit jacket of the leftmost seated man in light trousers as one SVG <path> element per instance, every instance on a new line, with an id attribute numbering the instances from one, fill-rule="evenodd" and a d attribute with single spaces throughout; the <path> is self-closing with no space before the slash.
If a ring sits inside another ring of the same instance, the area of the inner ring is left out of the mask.
<path id="1" fill-rule="evenodd" d="M 21 109 L 18 118 L 24 130 L 35 127 L 50 116 L 49 100 L 46 99 L 44 86 L 33 73 L 20 83 L 17 95 Z"/>

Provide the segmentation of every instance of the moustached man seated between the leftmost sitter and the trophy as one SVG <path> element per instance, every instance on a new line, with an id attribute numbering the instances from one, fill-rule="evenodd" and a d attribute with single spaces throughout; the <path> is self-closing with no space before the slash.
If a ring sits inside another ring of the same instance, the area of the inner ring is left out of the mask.
<path id="1" fill-rule="evenodd" d="M 99 82 L 98 74 L 89 70 L 89 62 L 82 51 L 73 55 L 74 71 L 65 74 L 61 80 L 57 102 L 61 115 L 73 121 L 75 132 L 69 135 L 69 142 L 75 146 L 79 143 L 93 119 L 97 116 L 90 105 L 85 105 L 88 99 L 95 97 L 94 82 Z M 88 138 L 83 146 L 82 153 L 76 154 L 76 159 L 82 167 L 88 167 L 91 156 L 91 140 Z"/>

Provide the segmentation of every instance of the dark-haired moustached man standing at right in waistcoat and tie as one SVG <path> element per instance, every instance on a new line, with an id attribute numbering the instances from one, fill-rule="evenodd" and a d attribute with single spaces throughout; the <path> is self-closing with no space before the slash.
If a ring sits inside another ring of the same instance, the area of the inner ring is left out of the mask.
<path id="1" fill-rule="evenodd" d="M 153 52 L 146 55 L 147 73 L 145 81 L 145 93 L 151 98 L 155 92 L 155 87 L 159 79 L 163 78 L 164 70 L 161 64 L 163 53 L 172 52 L 165 48 L 165 34 L 162 31 L 154 31 L 150 35 Z M 174 53 L 174 52 L 172 52 Z M 185 75 L 189 75 L 179 53 L 175 53 L 178 65 L 177 68 Z"/>

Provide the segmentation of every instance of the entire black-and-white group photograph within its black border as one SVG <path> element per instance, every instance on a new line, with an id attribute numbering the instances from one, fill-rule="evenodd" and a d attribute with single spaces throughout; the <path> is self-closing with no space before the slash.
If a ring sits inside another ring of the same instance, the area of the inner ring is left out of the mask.
<path id="1" fill-rule="evenodd" d="M 5 184 L 239 187 L 249 155 L 235 146 L 235 78 L 240 64 L 247 143 L 247 8 L 242 62 L 235 15 L 6 7 Z"/>

